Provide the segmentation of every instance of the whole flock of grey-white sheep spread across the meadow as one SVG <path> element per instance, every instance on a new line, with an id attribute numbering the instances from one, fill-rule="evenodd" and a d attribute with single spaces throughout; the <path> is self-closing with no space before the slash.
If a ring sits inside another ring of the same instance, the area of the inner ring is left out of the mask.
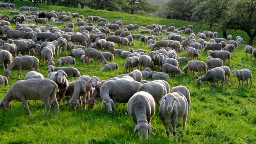
<path id="1" fill-rule="evenodd" d="M 0 6 L 15 10 L 15 6 L 10 4 L 4 6 L 4 3 L 1 3 Z M 124 25 L 122 20 L 108 22 L 98 16 L 88 16 L 82 21 L 84 16 L 77 13 L 38 12 L 38 8 L 26 6 L 18 11 L 9 10 L 9 12 L 16 16 L 10 18 L 8 15 L 1 15 L 2 20 L 0 20 L 0 62 L 4 71 L 4 76 L 0 76 L 0 84 L 8 86 L 7 78 L 14 69 L 18 69 L 19 78 L 22 77 L 22 69 L 32 71 L 26 74 L 24 80 L 16 82 L 0 100 L 0 107 L 3 110 L 12 108 L 10 102 L 18 100 L 22 102 L 22 113 L 26 107 L 31 114 L 27 100 L 42 100 L 46 106 L 44 116 L 47 116 L 51 107 L 50 98 L 54 104 L 55 116 L 58 117 L 60 101 L 63 100 L 65 106 L 64 97 L 72 96 L 68 103 L 73 110 L 80 107 L 86 112 L 86 104 L 91 110 L 95 104 L 98 105 L 96 98 L 101 98 L 101 108 L 105 105 L 106 110 L 111 114 L 115 113 L 116 102 L 128 102 L 128 114 L 135 124 L 134 133 L 140 131 L 143 139 L 147 139 L 148 131 L 152 132 L 150 120 L 155 114 L 155 102 L 160 106 L 159 117 L 168 137 L 170 134 L 168 124 L 172 124 L 172 134 L 176 139 L 176 125 L 180 118 L 183 118 L 183 130 L 186 130 L 186 119 L 190 112 L 190 92 L 185 86 L 177 86 L 172 88 L 170 93 L 170 85 L 165 81 L 170 78 L 169 73 L 177 76 L 177 74 L 184 75 L 191 72 L 194 77 L 194 72 L 199 72 L 201 77 L 197 80 L 198 86 L 201 86 L 204 81 L 209 81 L 214 90 L 214 85 L 217 83 L 219 86 L 221 81 L 223 88 L 225 78 L 230 84 L 231 74 L 230 68 L 223 66 L 223 61 L 225 64 L 226 60 L 230 63 L 230 52 L 234 53 L 235 47 L 238 48 L 244 43 L 239 37 L 236 41 L 232 40 L 231 35 L 228 36 L 229 41 L 226 43 L 226 39 L 218 38 L 217 32 L 210 31 L 198 33 L 196 42 L 192 25 L 188 28 L 185 26 L 175 28 L 174 24 L 170 24 L 168 28 L 157 24 L 143 27 L 136 24 Z M 77 22 L 72 23 L 73 18 L 76 18 Z M 51 25 L 48 24 L 49 20 Z M 89 23 L 86 23 L 86 20 Z M 36 24 L 26 24 L 26 22 L 36 22 Z M 66 24 L 66 22 L 70 23 L 64 28 L 58 29 L 54 26 L 54 24 Z M 92 22 L 97 22 L 97 26 L 94 27 Z M 11 23 L 16 25 L 16 30 L 12 30 Z M 46 26 L 38 26 L 38 23 Z M 75 26 L 79 26 L 77 33 L 74 33 Z M 144 30 L 139 31 L 140 29 Z M 134 33 L 134 30 L 137 30 L 138 34 L 132 35 L 131 32 Z M 154 35 L 142 36 L 141 34 Z M 164 38 L 163 34 L 168 35 L 168 38 Z M 190 36 L 182 38 L 180 34 L 190 34 Z M 161 40 L 158 40 L 158 36 Z M 206 38 L 210 41 L 206 42 Z M 123 46 L 126 46 L 126 49 L 134 46 L 134 39 L 139 39 L 142 47 L 143 43 L 144 47 L 146 44 L 151 52 L 147 54 L 143 49 L 134 50 L 133 48 L 128 51 L 123 50 Z M 70 49 L 71 56 L 59 58 L 62 50 L 67 54 L 67 48 Z M 104 52 L 101 52 L 102 49 Z M 178 56 L 179 52 L 182 54 L 185 51 L 188 59 Z M 198 56 L 205 51 L 208 51 L 206 63 L 198 60 Z M 34 57 L 36 52 L 42 58 L 43 64 L 46 60 L 49 72 L 47 78 L 39 73 L 39 60 Z M 256 57 L 256 50 L 251 46 L 246 46 L 245 52 L 246 56 L 250 54 Z M 56 62 L 58 65 L 76 64 L 74 57 L 80 58 L 84 64 L 90 64 L 95 58 L 98 66 L 100 66 L 98 60 L 103 61 L 100 71 L 119 70 L 116 63 L 108 63 L 108 60 L 114 60 L 114 54 L 126 57 L 124 68 L 126 72 L 129 69 L 129 74 L 100 80 L 96 76 L 91 78 L 81 76 L 79 70 L 74 67 L 53 66 L 56 58 L 58 58 Z M 181 70 L 179 62 L 188 64 Z M 162 72 L 159 72 L 161 69 Z M 205 72 L 204 76 L 202 71 Z M 238 78 L 239 88 L 240 80 L 243 86 L 244 80 L 247 81 L 247 85 L 248 79 L 252 83 L 252 74 L 249 69 L 234 70 L 232 73 Z M 78 77 L 78 79 L 68 82 L 67 76 Z M 146 80 L 142 80 L 143 78 Z M 154 81 L 147 81 L 150 78 Z"/>

